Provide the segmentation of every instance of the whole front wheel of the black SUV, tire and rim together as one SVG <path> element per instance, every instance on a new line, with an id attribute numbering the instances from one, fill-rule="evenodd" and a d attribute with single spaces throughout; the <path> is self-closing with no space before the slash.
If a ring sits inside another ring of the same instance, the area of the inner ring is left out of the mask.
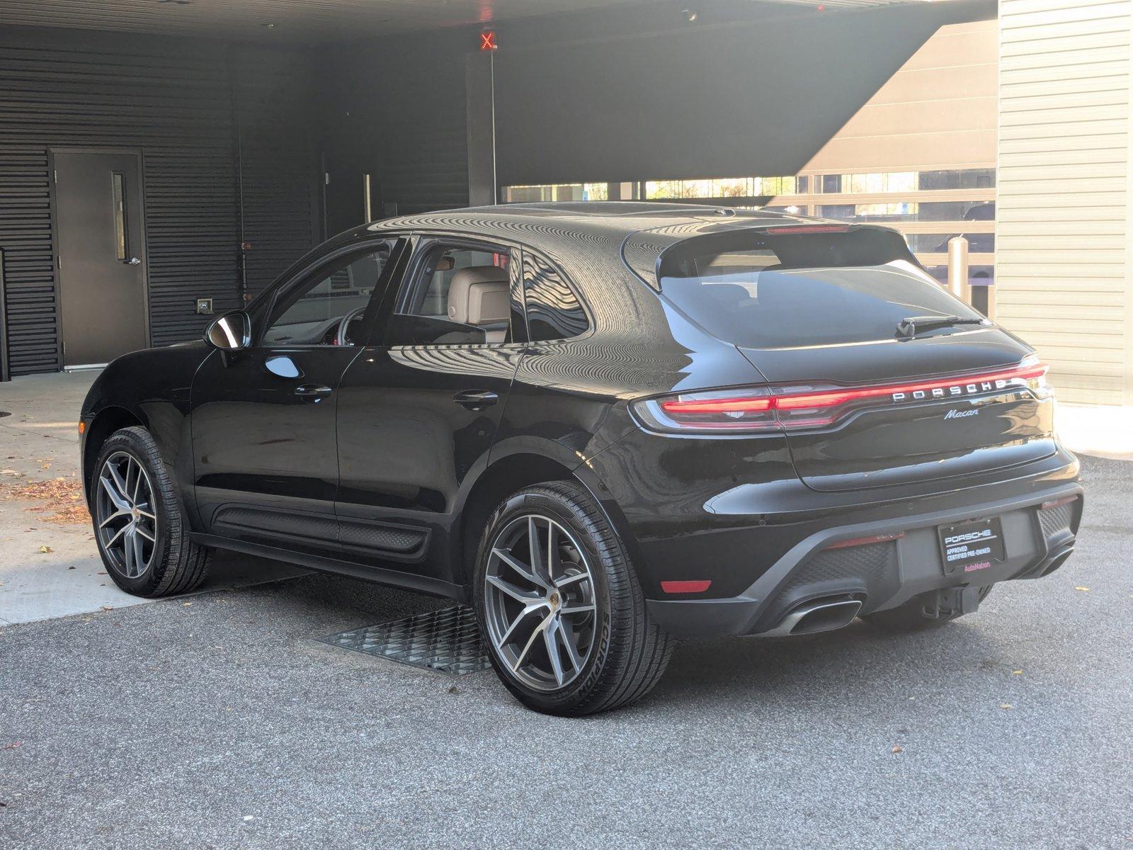
<path id="1" fill-rule="evenodd" d="M 116 585 L 153 597 L 204 581 L 211 550 L 189 541 L 172 473 L 148 431 L 129 427 L 110 435 L 88 492 L 95 543 Z"/>

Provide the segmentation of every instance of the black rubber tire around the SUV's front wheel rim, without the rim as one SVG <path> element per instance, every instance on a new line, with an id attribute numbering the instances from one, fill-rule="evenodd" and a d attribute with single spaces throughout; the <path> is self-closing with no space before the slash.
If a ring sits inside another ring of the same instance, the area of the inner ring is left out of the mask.
<path id="1" fill-rule="evenodd" d="M 128 456 L 128 458 L 123 457 Z M 153 534 L 151 555 L 147 566 L 139 575 L 127 575 L 122 560 L 108 551 L 104 537 L 100 534 L 100 488 L 101 476 L 107 470 L 108 461 L 127 464 L 131 458 L 145 471 L 145 484 L 152 491 L 152 515 L 150 526 Z M 143 427 L 129 427 L 116 431 L 103 444 L 95 460 L 90 483 L 92 518 L 94 520 L 94 538 L 99 554 L 114 584 L 126 593 L 135 596 L 157 597 L 187 593 L 198 587 L 208 572 L 208 561 L 212 550 L 191 543 L 188 537 L 188 526 L 181 512 L 181 502 L 177 495 L 172 473 L 161 458 L 157 444 Z"/>

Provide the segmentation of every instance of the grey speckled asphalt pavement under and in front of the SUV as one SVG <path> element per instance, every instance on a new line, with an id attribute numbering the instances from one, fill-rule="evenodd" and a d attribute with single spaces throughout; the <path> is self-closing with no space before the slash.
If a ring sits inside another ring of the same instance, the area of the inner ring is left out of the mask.
<path id="1" fill-rule="evenodd" d="M 534 714 L 317 638 L 445 604 L 306 575 L 0 628 L 0 847 L 1133 847 L 1133 465 L 946 628 L 678 648 Z"/>

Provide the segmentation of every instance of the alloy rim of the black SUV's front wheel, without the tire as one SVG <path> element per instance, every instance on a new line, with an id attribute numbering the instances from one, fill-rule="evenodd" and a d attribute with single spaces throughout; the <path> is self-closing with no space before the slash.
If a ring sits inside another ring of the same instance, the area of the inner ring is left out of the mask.
<path id="1" fill-rule="evenodd" d="M 133 456 L 114 452 L 99 470 L 94 503 L 95 530 L 110 567 L 140 578 L 153 564 L 157 542 L 150 476 Z"/>

